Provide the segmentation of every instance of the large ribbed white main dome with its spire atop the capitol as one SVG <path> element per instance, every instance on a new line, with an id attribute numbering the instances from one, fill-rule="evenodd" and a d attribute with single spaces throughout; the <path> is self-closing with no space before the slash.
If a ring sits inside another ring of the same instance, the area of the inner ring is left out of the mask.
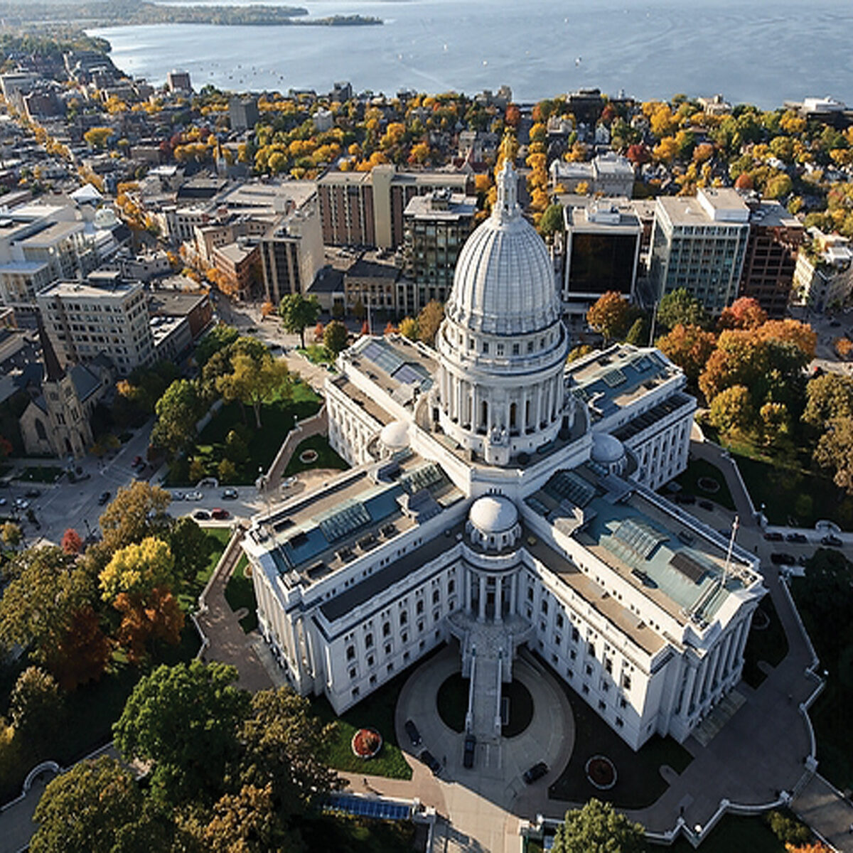
<path id="1" fill-rule="evenodd" d="M 530 334 L 560 318 L 548 249 L 516 201 L 509 162 L 498 176 L 490 218 L 468 238 L 444 312 L 463 328 L 485 334 Z"/>

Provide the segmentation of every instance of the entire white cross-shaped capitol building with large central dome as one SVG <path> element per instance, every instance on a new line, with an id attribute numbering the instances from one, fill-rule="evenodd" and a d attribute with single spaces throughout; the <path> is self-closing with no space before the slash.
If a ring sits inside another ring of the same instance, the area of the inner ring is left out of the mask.
<path id="1" fill-rule="evenodd" d="M 528 647 L 633 748 L 683 741 L 740 680 L 757 558 L 656 493 L 696 403 L 653 348 L 566 363 L 554 268 L 504 165 L 433 350 L 363 336 L 326 381 L 351 469 L 252 519 L 264 639 L 338 713 L 441 643 L 466 728 L 501 732 Z"/>

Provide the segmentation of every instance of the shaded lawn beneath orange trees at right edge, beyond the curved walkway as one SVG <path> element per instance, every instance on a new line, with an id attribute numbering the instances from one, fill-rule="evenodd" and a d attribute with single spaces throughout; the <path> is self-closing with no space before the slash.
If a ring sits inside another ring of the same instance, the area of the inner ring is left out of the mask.
<path id="1" fill-rule="evenodd" d="M 764 504 L 772 525 L 786 525 L 789 516 L 798 526 L 814 527 L 829 519 L 843 530 L 853 530 L 853 497 L 843 496 L 831 479 L 780 461 L 733 454 L 755 508 Z"/>

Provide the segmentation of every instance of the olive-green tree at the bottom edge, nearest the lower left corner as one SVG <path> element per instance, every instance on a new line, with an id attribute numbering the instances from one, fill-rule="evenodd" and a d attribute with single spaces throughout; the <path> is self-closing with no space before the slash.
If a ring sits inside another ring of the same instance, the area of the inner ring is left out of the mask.
<path id="1" fill-rule="evenodd" d="M 114 758 L 81 761 L 44 789 L 36 806 L 32 853 L 168 850 L 168 822 L 146 802 Z"/>

